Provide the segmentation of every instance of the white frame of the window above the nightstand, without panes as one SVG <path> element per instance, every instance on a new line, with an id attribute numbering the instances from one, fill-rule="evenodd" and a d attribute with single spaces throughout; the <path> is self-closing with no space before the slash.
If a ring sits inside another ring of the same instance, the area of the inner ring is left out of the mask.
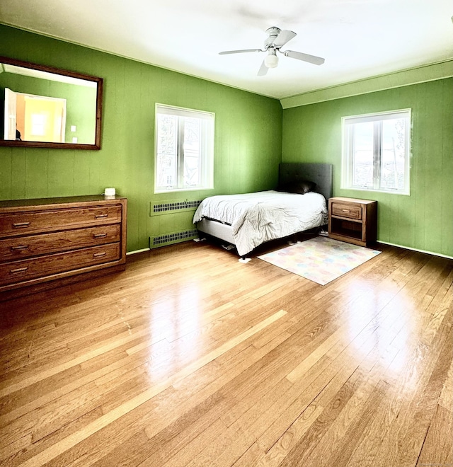
<path id="1" fill-rule="evenodd" d="M 406 128 L 404 134 L 404 187 L 381 187 L 381 149 L 382 149 L 382 122 L 395 118 L 405 118 Z M 373 186 L 360 186 L 353 183 L 354 170 L 354 125 L 357 123 L 374 122 L 373 129 Z M 411 195 L 411 109 L 391 110 L 388 112 L 369 113 L 364 115 L 351 115 L 342 117 L 341 132 L 343 135 L 341 188 L 345 190 L 365 190 L 374 192 L 393 193 L 395 195 Z"/>

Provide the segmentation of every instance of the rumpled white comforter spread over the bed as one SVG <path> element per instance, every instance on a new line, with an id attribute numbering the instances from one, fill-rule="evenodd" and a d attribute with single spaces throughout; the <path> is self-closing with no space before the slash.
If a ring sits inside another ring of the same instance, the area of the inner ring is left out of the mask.
<path id="1" fill-rule="evenodd" d="M 265 241 L 326 224 L 327 207 L 319 193 L 270 190 L 208 197 L 195 211 L 194 224 L 203 217 L 230 224 L 238 253 L 243 256 Z"/>

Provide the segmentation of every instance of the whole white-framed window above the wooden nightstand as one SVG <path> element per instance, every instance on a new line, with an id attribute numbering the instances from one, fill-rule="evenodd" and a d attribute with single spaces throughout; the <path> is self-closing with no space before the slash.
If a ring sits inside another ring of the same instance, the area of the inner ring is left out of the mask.
<path id="1" fill-rule="evenodd" d="M 342 188 L 410 194 L 411 110 L 343 117 Z"/>

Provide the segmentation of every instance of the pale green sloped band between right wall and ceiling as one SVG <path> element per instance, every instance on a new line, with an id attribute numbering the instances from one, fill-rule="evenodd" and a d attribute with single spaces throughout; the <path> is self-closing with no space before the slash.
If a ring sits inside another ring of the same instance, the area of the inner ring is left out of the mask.
<path id="1" fill-rule="evenodd" d="M 280 103 L 283 109 L 287 109 L 326 100 L 384 91 L 385 89 L 401 88 L 411 84 L 436 81 L 450 76 L 453 76 L 453 59 L 309 91 L 297 96 L 280 99 Z"/>

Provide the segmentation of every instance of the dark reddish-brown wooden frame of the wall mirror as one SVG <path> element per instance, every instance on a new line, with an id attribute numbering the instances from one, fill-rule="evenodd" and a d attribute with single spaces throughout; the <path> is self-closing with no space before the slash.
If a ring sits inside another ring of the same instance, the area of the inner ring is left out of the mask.
<path id="1" fill-rule="evenodd" d="M 102 118 L 102 97 L 103 97 L 103 79 L 97 76 L 77 73 L 76 71 L 62 70 L 45 65 L 39 65 L 31 62 L 23 62 L 17 59 L 8 57 L 0 57 L 0 63 L 14 65 L 15 67 L 23 67 L 38 71 L 45 71 L 71 78 L 82 79 L 85 81 L 93 81 L 96 83 L 96 132 L 94 144 L 79 144 L 79 143 L 53 143 L 53 142 L 36 142 L 36 141 L 16 141 L 12 139 L 0 139 L 0 146 L 22 147 L 22 148 L 54 148 L 54 149 L 86 149 L 97 150 L 101 149 L 101 118 Z M 3 129 L 1 129 L 3 133 Z"/>

